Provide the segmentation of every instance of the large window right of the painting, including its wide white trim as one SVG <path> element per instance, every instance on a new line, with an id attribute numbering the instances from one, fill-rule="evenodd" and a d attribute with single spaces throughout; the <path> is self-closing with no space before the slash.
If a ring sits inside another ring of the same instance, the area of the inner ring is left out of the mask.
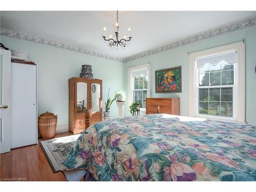
<path id="1" fill-rule="evenodd" d="M 243 42 L 189 55 L 189 115 L 244 122 Z"/>

